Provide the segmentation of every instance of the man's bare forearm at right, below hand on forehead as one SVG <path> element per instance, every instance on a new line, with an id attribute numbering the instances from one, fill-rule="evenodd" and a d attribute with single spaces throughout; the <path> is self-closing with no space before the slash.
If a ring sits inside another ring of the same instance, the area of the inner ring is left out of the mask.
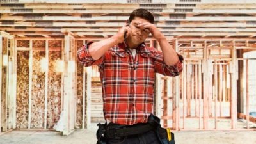
<path id="1" fill-rule="evenodd" d="M 179 57 L 166 38 L 163 36 L 157 39 L 157 41 L 163 51 L 164 63 L 166 63 L 166 65 L 175 65 L 178 63 Z"/>

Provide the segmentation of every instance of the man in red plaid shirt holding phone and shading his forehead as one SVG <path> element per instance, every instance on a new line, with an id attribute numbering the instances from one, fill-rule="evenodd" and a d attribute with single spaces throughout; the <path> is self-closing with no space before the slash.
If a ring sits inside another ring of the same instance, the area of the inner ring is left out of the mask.
<path id="1" fill-rule="evenodd" d="M 164 143 L 157 130 L 159 119 L 152 115 L 155 72 L 178 76 L 183 58 L 153 23 L 152 13 L 134 10 L 116 35 L 89 42 L 77 51 L 84 66 L 99 65 L 108 125 L 101 127 L 106 132 L 98 134 L 98 139 L 103 136 L 106 143 Z M 150 33 L 163 52 L 145 45 Z"/>

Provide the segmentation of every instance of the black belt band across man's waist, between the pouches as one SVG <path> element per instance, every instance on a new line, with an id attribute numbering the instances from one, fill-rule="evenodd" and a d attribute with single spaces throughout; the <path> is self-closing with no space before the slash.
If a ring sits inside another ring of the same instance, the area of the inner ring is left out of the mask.
<path id="1" fill-rule="evenodd" d="M 107 137 L 108 138 L 120 138 L 124 136 L 132 136 L 135 134 L 141 134 L 154 129 L 150 124 L 137 124 L 137 125 L 108 125 Z"/>

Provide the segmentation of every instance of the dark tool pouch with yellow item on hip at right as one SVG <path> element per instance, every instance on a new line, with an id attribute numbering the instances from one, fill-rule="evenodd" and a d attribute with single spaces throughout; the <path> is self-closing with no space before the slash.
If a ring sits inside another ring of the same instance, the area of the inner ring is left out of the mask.
<path id="1" fill-rule="evenodd" d="M 163 144 L 175 144 L 174 134 L 170 129 L 159 127 L 158 133 Z"/>

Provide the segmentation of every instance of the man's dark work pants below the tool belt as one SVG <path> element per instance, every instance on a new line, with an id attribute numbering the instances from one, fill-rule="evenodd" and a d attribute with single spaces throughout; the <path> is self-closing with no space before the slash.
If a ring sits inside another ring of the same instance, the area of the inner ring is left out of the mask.
<path id="1" fill-rule="evenodd" d="M 156 132 L 151 130 L 143 134 L 123 138 L 108 138 L 108 144 L 161 144 Z"/>

